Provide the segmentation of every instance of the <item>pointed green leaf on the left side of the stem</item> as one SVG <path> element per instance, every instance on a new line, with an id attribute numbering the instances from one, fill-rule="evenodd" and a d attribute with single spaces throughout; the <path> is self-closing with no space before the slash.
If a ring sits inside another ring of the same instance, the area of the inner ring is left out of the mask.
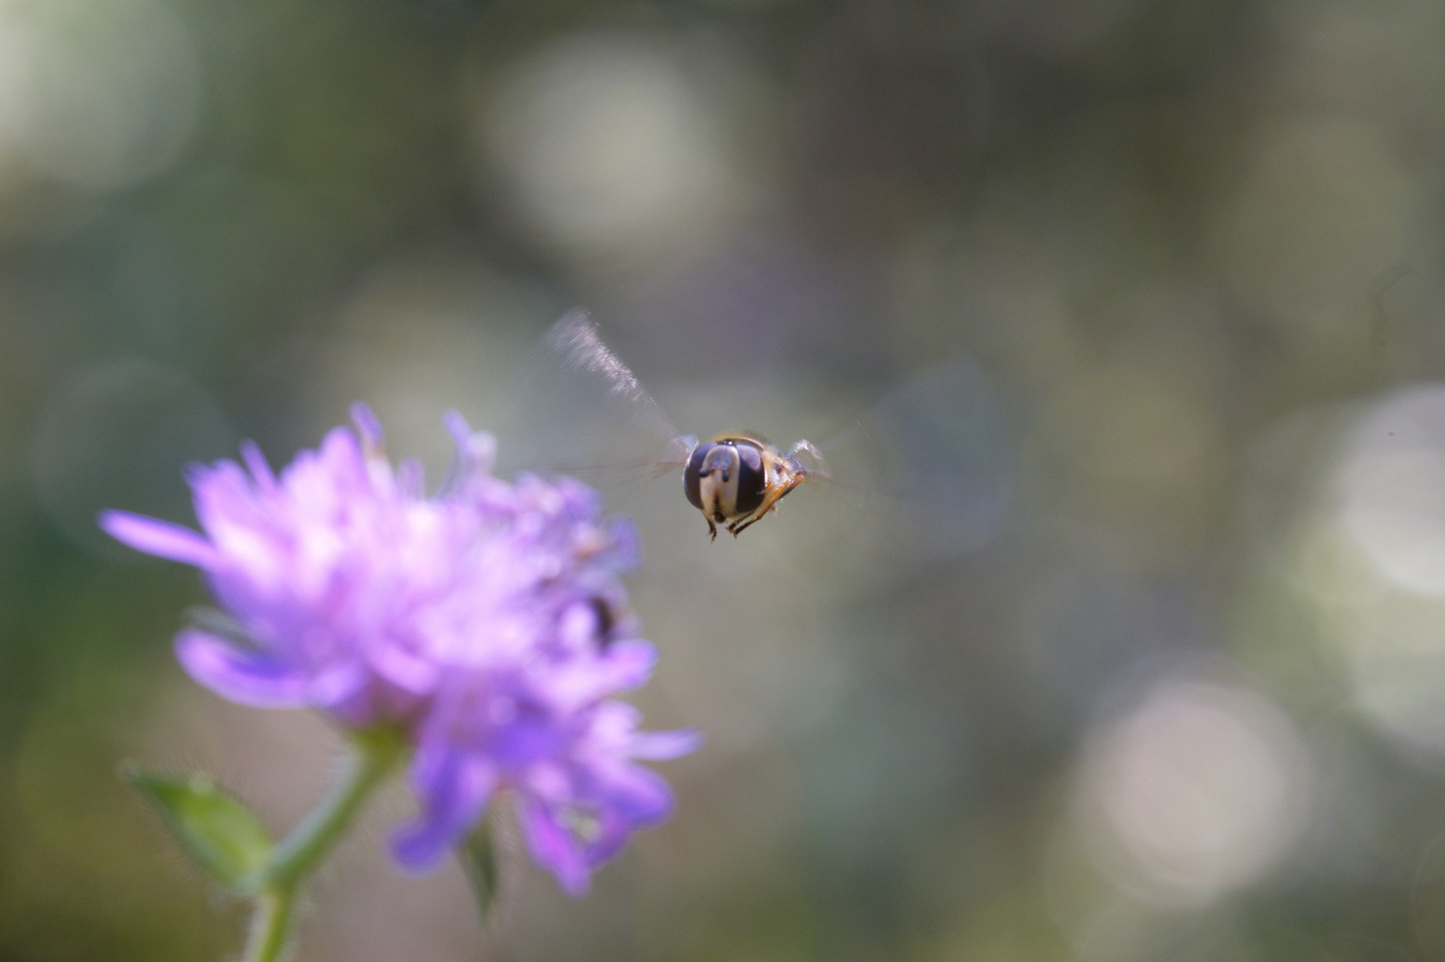
<path id="1" fill-rule="evenodd" d="M 254 893 L 272 854 L 272 838 L 244 801 L 199 772 L 173 775 L 140 768 L 123 772 L 150 800 L 181 846 L 227 888 Z"/>

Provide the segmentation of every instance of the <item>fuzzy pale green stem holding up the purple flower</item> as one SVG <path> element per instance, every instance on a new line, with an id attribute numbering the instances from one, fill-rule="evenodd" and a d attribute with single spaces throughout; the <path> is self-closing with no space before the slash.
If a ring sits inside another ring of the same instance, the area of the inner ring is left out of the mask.
<path id="1" fill-rule="evenodd" d="M 353 745 L 355 751 L 331 794 L 276 846 L 264 869 L 264 885 L 256 895 L 256 914 L 246 955 L 241 956 L 244 962 L 277 962 L 285 958 L 302 887 L 351 825 L 371 790 L 406 755 L 406 742 L 390 729 L 357 732 Z"/>

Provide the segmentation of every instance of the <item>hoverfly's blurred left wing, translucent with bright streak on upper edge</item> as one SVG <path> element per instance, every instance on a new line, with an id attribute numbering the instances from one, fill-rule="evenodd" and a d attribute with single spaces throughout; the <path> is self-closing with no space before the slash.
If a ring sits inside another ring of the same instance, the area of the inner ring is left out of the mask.
<path id="1" fill-rule="evenodd" d="M 499 430 L 499 473 L 577 474 L 616 486 L 686 461 L 681 438 L 587 311 L 548 328 L 512 392 Z"/>

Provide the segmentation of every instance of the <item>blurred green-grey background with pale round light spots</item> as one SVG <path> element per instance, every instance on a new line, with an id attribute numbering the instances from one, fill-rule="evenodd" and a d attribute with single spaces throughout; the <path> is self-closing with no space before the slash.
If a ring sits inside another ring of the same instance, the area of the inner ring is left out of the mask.
<path id="1" fill-rule="evenodd" d="M 95 512 L 357 398 L 526 450 L 585 304 L 679 430 L 861 424 L 929 511 L 610 489 L 676 816 L 483 932 L 396 791 L 302 958 L 1441 958 L 1442 161 L 1435 0 L 0 1 L 0 956 L 234 950 L 117 764 L 282 830 L 337 754 Z"/>

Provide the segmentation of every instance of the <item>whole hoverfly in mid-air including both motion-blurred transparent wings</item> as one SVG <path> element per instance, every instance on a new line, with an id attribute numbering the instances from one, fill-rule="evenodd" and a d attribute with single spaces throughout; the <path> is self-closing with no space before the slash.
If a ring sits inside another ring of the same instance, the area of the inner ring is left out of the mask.
<path id="1" fill-rule="evenodd" d="M 613 479 L 681 469 L 683 495 L 712 540 L 720 527 L 737 537 L 776 514 L 803 483 L 861 490 L 870 505 L 903 503 L 909 511 L 896 514 L 910 514 L 925 538 L 946 541 L 946 553 L 990 540 L 1001 515 L 1007 459 L 991 391 L 972 366 L 945 366 L 903 385 L 825 444 L 782 448 L 756 431 L 705 441 L 679 433 L 582 310 L 556 321 L 540 352 L 529 378 L 539 383 L 522 391 L 533 427 L 504 438 L 507 461 Z M 584 460 L 559 464 L 558 451 Z M 835 454 L 842 479 L 829 466 Z"/>

